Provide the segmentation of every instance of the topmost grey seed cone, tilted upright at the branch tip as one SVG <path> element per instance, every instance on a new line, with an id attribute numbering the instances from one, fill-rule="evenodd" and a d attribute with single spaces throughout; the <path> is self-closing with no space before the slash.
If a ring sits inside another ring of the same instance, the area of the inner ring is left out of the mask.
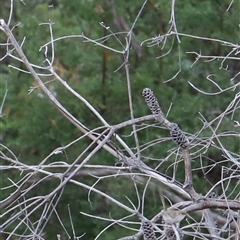
<path id="1" fill-rule="evenodd" d="M 160 123 L 163 122 L 163 113 L 161 107 L 159 106 L 158 100 L 153 94 L 153 91 L 150 88 L 144 88 L 142 91 L 142 95 L 145 98 L 145 102 L 147 103 L 149 109 L 155 117 L 156 121 Z"/>

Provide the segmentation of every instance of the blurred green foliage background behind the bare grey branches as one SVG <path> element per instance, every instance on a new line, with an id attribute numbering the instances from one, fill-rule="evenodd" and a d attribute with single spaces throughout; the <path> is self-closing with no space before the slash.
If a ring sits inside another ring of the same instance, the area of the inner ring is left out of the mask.
<path id="1" fill-rule="evenodd" d="M 89 38 L 98 39 L 109 34 L 99 24 L 104 22 L 112 32 L 121 32 L 118 37 L 125 43 L 126 32 L 131 28 L 143 4 L 143 1 L 139 0 L 55 0 L 52 2 L 25 0 L 25 5 L 21 1 L 14 2 L 12 26 L 18 22 L 21 24 L 14 28 L 13 33 L 19 42 L 26 37 L 23 50 L 30 62 L 37 65 L 42 65 L 44 61 L 43 51 L 39 52 L 40 46 L 50 40 L 48 25 L 41 23 L 47 23 L 49 19 L 54 22 L 55 39 L 82 33 Z M 239 43 L 240 7 L 237 6 L 237 2 L 234 2 L 232 7 L 226 11 L 229 4 L 229 0 L 176 1 L 175 17 L 178 32 Z M 8 17 L 9 5 L 9 1 L 1 2 L 0 13 L 5 20 Z M 219 42 L 180 36 L 181 44 L 179 44 L 176 37 L 170 36 L 164 48 L 162 48 L 162 44 L 152 47 L 147 44 L 141 45 L 146 39 L 165 34 L 168 31 L 170 13 L 171 1 L 149 0 L 134 28 L 129 61 L 134 115 L 140 117 L 150 114 L 141 96 L 142 89 L 149 87 L 154 90 L 165 114 L 171 106 L 169 120 L 177 122 L 183 131 L 195 134 L 203 125 L 199 119 L 199 112 L 208 121 L 211 121 L 225 110 L 234 98 L 236 91 L 205 96 L 194 90 L 188 81 L 205 92 L 217 92 L 216 86 L 210 84 L 206 77 L 213 74 L 212 78 L 221 88 L 230 87 L 230 79 L 240 71 L 239 63 L 237 60 L 227 60 L 222 66 L 222 60 L 216 59 L 215 61 L 199 60 L 193 64 L 196 55 L 188 54 L 188 52 L 197 52 L 207 56 L 226 56 L 231 48 L 223 46 Z M 1 42 L 6 40 L 3 33 L 0 35 L 0 40 Z M 110 37 L 105 44 L 122 50 L 114 37 Z M 168 55 L 158 58 L 169 50 L 171 51 Z M 5 50 L 2 49 L 1 57 L 4 54 Z M 0 99 L 2 100 L 5 92 L 8 92 L 3 106 L 3 116 L 0 118 L 0 141 L 16 154 L 19 161 L 37 165 L 52 150 L 68 144 L 81 136 L 81 133 L 64 119 L 40 90 L 35 89 L 31 94 L 28 94 L 29 89 L 36 87 L 32 77 L 8 68 L 8 65 L 11 64 L 24 69 L 22 64 L 10 58 L 4 59 L 2 63 L 0 66 Z M 86 43 L 79 37 L 55 42 L 54 67 L 56 71 L 73 89 L 85 97 L 110 124 L 130 119 L 126 76 L 124 69 L 119 69 L 122 63 L 123 59 L 119 54 L 94 46 L 92 43 Z M 228 71 L 224 70 L 227 65 Z M 175 76 L 179 66 L 180 73 L 173 80 L 167 81 Z M 237 80 L 236 78 L 235 81 Z M 101 123 L 96 122 L 96 118 L 84 104 L 76 100 L 63 86 L 53 81 L 49 83 L 49 88 L 83 124 L 91 129 L 101 126 Z M 235 120 L 236 114 L 237 111 L 233 116 Z M 222 120 L 218 132 L 231 130 L 234 130 L 233 121 L 227 116 Z M 126 137 L 130 133 L 131 128 L 119 131 L 128 145 L 134 148 L 133 138 Z M 201 132 L 200 137 L 211 135 L 210 129 L 206 129 Z M 139 140 L 140 144 L 145 144 L 157 140 L 159 137 L 168 136 L 169 133 L 165 130 L 149 127 L 139 133 Z M 229 141 L 229 139 L 221 140 L 229 151 L 239 151 L 239 142 Z M 76 143 L 64 154 L 50 157 L 48 163 L 54 161 L 72 163 L 89 143 L 90 141 L 87 139 Z M 147 147 L 142 151 L 142 155 L 147 164 L 157 166 L 169 155 L 168 150 L 173 147 L 175 147 L 174 143 L 166 140 L 161 144 Z M 197 168 L 199 166 L 198 155 L 195 157 L 193 166 Z M 205 158 L 206 162 L 224 160 L 221 151 L 216 148 L 209 148 L 202 155 L 202 158 Z M 106 165 L 116 163 L 116 160 L 104 151 L 100 151 L 91 161 Z M 167 164 L 162 164 L 161 172 L 169 171 L 168 166 L 173 161 L 174 158 L 170 158 Z M 14 180 L 19 178 L 19 172 L 6 171 L 1 174 L 2 186 L 9 184 L 7 177 Z M 214 183 L 219 179 L 219 174 L 220 171 L 216 169 L 209 173 L 208 178 L 211 178 L 212 183 Z M 194 172 L 196 189 L 205 193 L 211 184 L 200 186 L 199 179 L 202 177 L 201 171 Z M 177 179 L 179 181 L 184 179 L 184 171 L 181 168 L 177 173 Z M 76 180 L 90 185 L 95 181 L 90 177 L 76 177 Z M 52 180 L 47 184 L 47 189 L 46 185 L 42 184 L 35 188 L 35 192 L 31 192 L 31 194 L 45 195 L 58 183 L 56 180 Z M 126 204 L 129 202 L 125 196 L 137 204 L 134 186 L 129 184 L 128 179 L 116 178 L 114 181 L 106 179 L 99 183 L 98 187 Z M 141 187 L 139 191 L 141 193 Z M 1 198 L 8 194 L 8 189 L 2 191 Z M 72 217 L 74 218 L 76 234 L 81 235 L 86 232 L 87 234 L 83 239 L 93 239 L 107 223 L 82 216 L 80 211 L 102 217 L 111 214 L 113 218 L 120 218 L 126 213 L 95 194 L 91 195 L 90 204 L 87 196 L 88 191 L 81 189 L 81 191 L 76 192 L 75 188 L 69 184 L 64 190 L 57 211 L 64 226 L 71 233 L 67 208 L 69 205 L 71 211 L 74 212 Z M 155 188 L 148 190 L 145 201 L 144 212 L 145 216 L 149 218 L 162 208 Z M 38 218 L 37 212 L 35 217 Z M 57 218 L 52 217 L 46 227 L 45 237 L 46 239 L 55 239 L 57 233 L 62 234 L 62 236 L 65 234 Z M 121 227 L 113 227 L 107 233 L 107 235 L 102 235 L 101 239 L 116 239 L 133 232 L 130 230 L 123 232 Z"/>

